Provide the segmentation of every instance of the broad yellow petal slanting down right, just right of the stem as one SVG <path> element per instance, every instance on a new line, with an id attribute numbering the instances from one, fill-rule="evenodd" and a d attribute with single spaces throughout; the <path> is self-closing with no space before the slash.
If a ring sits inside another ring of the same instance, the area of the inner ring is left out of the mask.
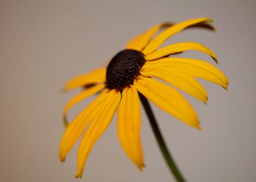
<path id="1" fill-rule="evenodd" d="M 176 89 L 142 75 L 138 76 L 134 85 L 138 92 L 165 112 L 200 129 L 197 113 Z"/>

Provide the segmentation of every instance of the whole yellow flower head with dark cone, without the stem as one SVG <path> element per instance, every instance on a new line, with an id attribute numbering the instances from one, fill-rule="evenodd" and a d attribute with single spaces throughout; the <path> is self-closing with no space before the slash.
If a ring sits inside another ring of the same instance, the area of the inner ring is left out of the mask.
<path id="1" fill-rule="evenodd" d="M 177 24 L 155 25 L 133 38 L 125 49 L 110 61 L 107 68 L 99 68 L 75 77 L 65 85 L 65 90 L 85 89 L 67 103 L 63 110 L 64 117 L 73 105 L 101 92 L 74 118 L 61 140 L 59 157 L 64 161 L 67 153 L 84 133 L 77 153 L 76 177 L 82 177 L 89 151 L 110 124 L 116 110 L 121 146 L 129 159 L 142 170 L 144 159 L 140 141 L 141 116 L 138 92 L 182 122 L 200 129 L 197 113 L 176 88 L 206 103 L 208 99 L 206 90 L 195 78 L 216 83 L 225 89 L 229 81 L 219 69 L 207 62 L 169 57 L 175 53 L 196 50 L 210 55 L 217 62 L 216 55 L 204 45 L 182 42 L 161 48 L 159 46 L 170 36 L 188 27 L 210 27 L 209 21 L 212 20 L 196 18 Z M 159 31 L 161 32 L 157 34 Z"/>

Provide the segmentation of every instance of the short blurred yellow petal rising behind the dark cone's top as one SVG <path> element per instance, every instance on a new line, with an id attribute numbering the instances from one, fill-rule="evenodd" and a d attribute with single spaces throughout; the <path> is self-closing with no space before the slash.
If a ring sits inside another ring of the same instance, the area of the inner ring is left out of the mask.
<path id="1" fill-rule="evenodd" d="M 142 51 L 142 49 L 150 42 L 152 36 L 156 34 L 158 31 L 163 29 L 164 27 L 171 26 L 172 23 L 159 23 L 150 29 L 148 31 L 143 32 L 142 34 L 139 34 L 138 36 L 135 36 L 128 44 L 126 45 L 125 49 L 134 49 L 137 51 Z"/>

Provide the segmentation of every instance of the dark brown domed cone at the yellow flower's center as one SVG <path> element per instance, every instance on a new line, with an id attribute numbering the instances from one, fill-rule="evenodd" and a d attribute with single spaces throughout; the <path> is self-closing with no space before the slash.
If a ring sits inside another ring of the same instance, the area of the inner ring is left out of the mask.
<path id="1" fill-rule="evenodd" d="M 106 88 L 122 91 L 123 88 L 132 85 L 140 75 L 140 68 L 144 65 L 143 53 L 133 49 L 120 51 L 106 68 Z"/>

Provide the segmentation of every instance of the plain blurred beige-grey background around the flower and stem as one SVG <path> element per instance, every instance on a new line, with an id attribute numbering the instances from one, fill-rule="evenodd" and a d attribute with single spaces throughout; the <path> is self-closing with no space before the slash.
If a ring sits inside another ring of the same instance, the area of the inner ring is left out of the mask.
<path id="1" fill-rule="evenodd" d="M 200 16 L 214 18 L 218 31 L 184 31 L 168 43 L 196 41 L 212 48 L 230 79 L 229 92 L 204 82 L 208 106 L 189 98 L 202 131 L 153 109 L 188 181 L 256 181 L 255 2 L 0 1 L 0 181 L 78 181 L 76 149 L 63 164 L 57 156 L 61 110 L 76 93 L 61 93 L 65 81 L 106 64 L 129 38 L 155 23 Z M 183 56 L 212 62 L 193 51 Z M 81 181 L 174 181 L 144 113 L 142 140 L 146 168 L 140 173 L 120 147 L 115 117 L 89 155 Z"/>

